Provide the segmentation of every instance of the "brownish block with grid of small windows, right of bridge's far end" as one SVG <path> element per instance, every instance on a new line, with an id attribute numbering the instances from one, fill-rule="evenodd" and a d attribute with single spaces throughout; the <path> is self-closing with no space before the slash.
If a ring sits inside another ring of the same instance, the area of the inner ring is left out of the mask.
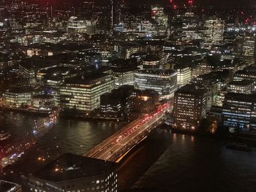
<path id="1" fill-rule="evenodd" d="M 206 117 L 206 90 L 185 85 L 176 91 L 173 106 L 173 126 L 195 129 Z"/>

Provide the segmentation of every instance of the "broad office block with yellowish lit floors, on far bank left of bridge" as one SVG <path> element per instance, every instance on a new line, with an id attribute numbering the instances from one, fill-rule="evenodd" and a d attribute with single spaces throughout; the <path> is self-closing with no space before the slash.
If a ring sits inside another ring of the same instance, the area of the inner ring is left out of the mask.
<path id="1" fill-rule="evenodd" d="M 60 88 L 60 104 L 64 110 L 91 112 L 99 108 L 100 96 L 112 89 L 113 79 L 109 74 L 71 77 Z"/>

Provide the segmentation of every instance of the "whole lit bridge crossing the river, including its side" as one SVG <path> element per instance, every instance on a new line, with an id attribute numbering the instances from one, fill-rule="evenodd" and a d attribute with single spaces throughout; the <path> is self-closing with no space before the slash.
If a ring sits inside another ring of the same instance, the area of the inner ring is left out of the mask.
<path id="1" fill-rule="evenodd" d="M 138 145 L 154 128 L 165 121 L 166 112 L 169 109 L 169 103 L 160 105 L 154 112 L 143 115 L 143 117 L 124 126 L 116 134 L 99 143 L 99 145 L 92 148 L 84 156 L 99 158 L 105 161 L 120 161 L 132 147 Z"/>

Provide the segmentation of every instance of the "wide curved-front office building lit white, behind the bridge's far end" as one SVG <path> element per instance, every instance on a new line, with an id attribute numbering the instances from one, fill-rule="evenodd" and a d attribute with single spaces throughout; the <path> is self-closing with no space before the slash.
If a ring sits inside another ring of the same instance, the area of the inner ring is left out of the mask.
<path id="1" fill-rule="evenodd" d="M 135 73 L 135 88 L 152 89 L 159 93 L 160 99 L 171 99 L 177 88 L 177 73 L 165 69 L 143 69 Z"/>

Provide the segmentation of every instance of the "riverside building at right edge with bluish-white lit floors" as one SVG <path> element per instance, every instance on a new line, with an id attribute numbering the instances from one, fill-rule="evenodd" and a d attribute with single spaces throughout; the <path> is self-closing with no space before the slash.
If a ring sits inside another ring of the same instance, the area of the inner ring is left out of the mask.
<path id="1" fill-rule="evenodd" d="M 256 95 L 227 93 L 222 111 L 223 126 L 230 131 L 252 131 L 256 128 Z"/>

